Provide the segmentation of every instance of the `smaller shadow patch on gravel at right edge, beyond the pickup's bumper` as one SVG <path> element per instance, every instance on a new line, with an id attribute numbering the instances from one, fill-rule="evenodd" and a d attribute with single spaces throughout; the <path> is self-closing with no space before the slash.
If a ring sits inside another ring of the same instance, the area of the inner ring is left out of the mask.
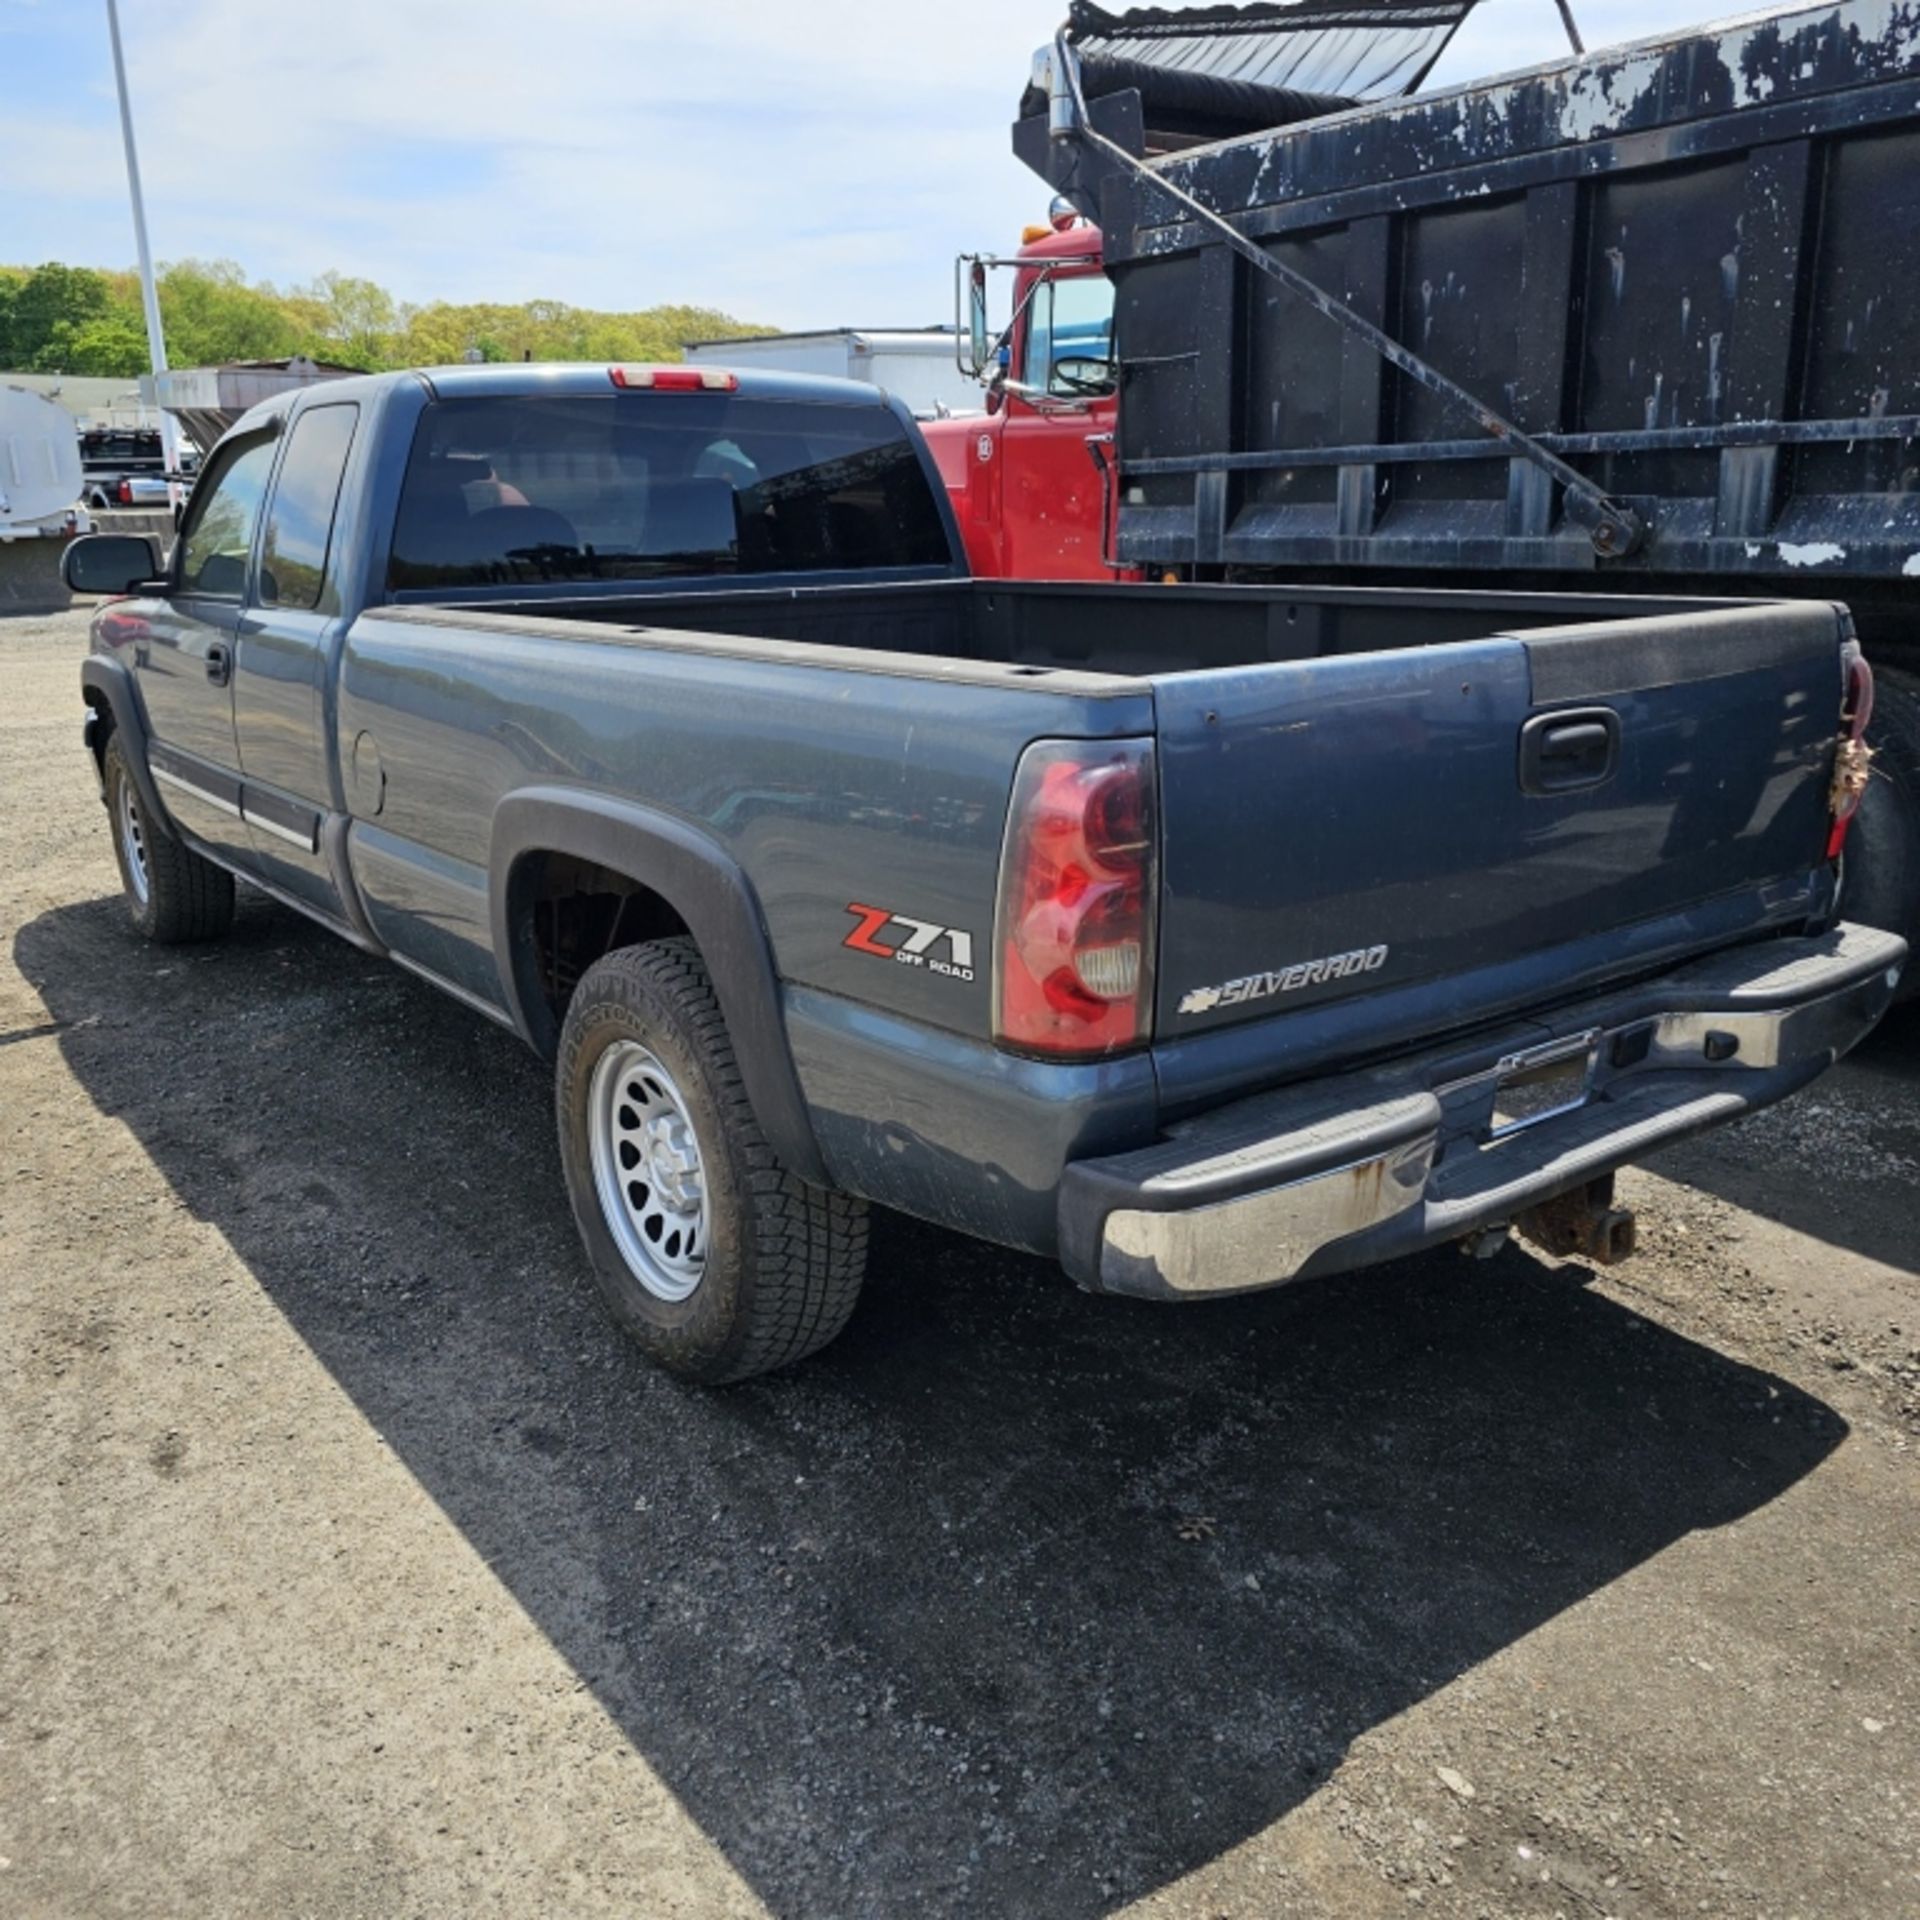
<path id="1" fill-rule="evenodd" d="M 1784 1162 L 1824 1169 L 1782 1179 Z M 1734 1206 L 1903 1273 L 1920 1254 L 1920 1002 L 1895 1008 L 1799 1098 L 1647 1162 Z"/>

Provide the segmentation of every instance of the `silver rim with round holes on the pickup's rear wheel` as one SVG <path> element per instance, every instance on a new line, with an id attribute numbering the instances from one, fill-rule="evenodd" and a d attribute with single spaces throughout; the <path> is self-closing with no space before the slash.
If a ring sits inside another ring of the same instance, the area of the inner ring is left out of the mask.
<path id="1" fill-rule="evenodd" d="M 707 1273 L 707 1175 L 674 1075 L 639 1041 L 593 1064 L 588 1142 L 601 1219 L 657 1300 L 685 1300 Z"/>

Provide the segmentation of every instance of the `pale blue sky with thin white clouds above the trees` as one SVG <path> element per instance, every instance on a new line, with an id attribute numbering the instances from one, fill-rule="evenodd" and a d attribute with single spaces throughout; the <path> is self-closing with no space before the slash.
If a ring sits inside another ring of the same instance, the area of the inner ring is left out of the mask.
<path id="1" fill-rule="evenodd" d="M 1590 42 L 1740 8 L 1576 0 Z M 121 0 L 161 259 L 403 300 L 924 324 L 1044 204 L 1006 129 L 1062 0 Z M 1557 58 L 1484 0 L 1434 84 Z M 0 0 L 0 261 L 129 265 L 104 0 Z"/>

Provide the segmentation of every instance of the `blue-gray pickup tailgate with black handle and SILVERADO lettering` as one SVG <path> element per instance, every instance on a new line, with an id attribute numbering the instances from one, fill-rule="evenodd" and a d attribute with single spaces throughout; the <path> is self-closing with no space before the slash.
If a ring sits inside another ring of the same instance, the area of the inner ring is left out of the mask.
<path id="1" fill-rule="evenodd" d="M 1453 975 L 1465 1023 L 1473 975 L 1809 876 L 1845 632 L 1755 605 L 1156 680 L 1162 1041 Z"/>

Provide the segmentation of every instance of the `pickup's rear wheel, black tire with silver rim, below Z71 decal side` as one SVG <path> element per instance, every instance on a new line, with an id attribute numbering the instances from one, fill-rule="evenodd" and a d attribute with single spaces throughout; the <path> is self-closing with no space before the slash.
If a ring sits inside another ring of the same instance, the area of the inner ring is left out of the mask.
<path id="1" fill-rule="evenodd" d="M 866 1206 L 774 1156 L 691 941 L 580 981 L 555 1081 L 574 1219 L 614 1319 L 718 1386 L 818 1352 L 866 1271 Z"/>

